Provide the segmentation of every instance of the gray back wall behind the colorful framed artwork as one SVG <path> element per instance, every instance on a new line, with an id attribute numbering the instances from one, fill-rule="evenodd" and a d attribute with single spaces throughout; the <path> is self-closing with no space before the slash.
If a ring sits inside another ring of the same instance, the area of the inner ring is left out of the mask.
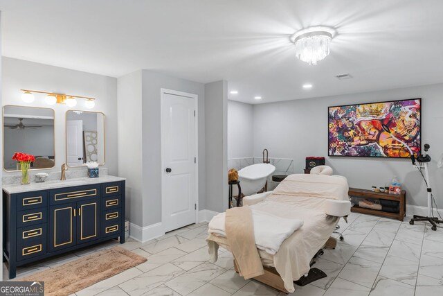
<path id="1" fill-rule="evenodd" d="M 302 173 L 305 157 L 327 156 L 328 106 L 421 97 L 422 143 L 431 145 L 433 191 L 438 207 L 443 208 L 443 169 L 436 165 L 443 153 L 442 94 L 443 84 L 439 84 L 254 105 L 254 155 L 261 155 L 262 148 L 267 147 L 272 157 L 293 158 L 294 171 Z M 397 175 L 407 191 L 406 202 L 426 207 L 424 182 L 408 159 L 327 157 L 326 162 L 357 188 L 383 186 Z"/>

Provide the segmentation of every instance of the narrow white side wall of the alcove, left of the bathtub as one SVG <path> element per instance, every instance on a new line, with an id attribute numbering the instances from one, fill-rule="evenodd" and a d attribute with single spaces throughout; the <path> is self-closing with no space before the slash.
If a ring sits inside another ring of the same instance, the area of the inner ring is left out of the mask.
<path id="1" fill-rule="evenodd" d="M 228 159 L 253 157 L 253 105 L 228 101 Z"/>

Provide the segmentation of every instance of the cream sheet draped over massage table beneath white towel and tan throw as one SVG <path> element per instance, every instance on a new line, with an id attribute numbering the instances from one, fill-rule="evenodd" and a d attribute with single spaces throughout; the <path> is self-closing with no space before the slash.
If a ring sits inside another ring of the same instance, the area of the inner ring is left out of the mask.
<path id="1" fill-rule="evenodd" d="M 347 180 L 344 177 L 307 176 L 287 177 L 266 200 L 251 205 L 253 209 L 282 218 L 304 221 L 304 225 L 282 243 L 277 254 L 272 256 L 259 250 L 262 263 L 275 267 L 289 292 L 293 290 L 290 286 L 292 281 L 309 272 L 312 257 L 323 247 L 338 223 L 338 217 L 324 214 L 325 201 L 334 197 L 338 200 L 348 198 Z M 298 195 L 301 192 L 306 195 Z M 224 243 L 220 245 L 228 248 Z"/>

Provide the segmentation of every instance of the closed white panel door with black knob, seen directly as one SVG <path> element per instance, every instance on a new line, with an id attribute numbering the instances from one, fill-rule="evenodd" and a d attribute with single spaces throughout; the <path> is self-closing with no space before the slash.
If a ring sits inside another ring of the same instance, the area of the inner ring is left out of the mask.
<path id="1" fill-rule="evenodd" d="M 196 222 L 197 98 L 163 93 L 163 225 L 165 232 Z"/>

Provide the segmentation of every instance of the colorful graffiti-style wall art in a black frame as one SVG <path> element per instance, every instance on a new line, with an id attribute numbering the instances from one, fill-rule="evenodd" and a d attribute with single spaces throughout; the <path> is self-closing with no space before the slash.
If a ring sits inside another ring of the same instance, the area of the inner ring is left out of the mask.
<path id="1" fill-rule="evenodd" d="M 329 156 L 410 157 L 420 153 L 420 98 L 329 107 Z"/>

